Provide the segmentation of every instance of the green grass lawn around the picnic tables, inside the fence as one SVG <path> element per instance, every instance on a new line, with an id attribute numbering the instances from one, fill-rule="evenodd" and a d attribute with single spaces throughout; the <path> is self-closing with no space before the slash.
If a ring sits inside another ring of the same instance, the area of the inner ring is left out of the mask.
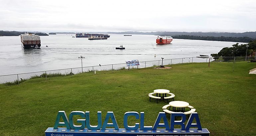
<path id="1" fill-rule="evenodd" d="M 119 128 L 123 128 L 125 112 L 143 111 L 144 124 L 153 126 L 167 103 L 149 102 L 148 94 L 168 89 L 176 101 L 196 108 L 202 128 L 211 136 L 256 135 L 256 75 L 248 74 L 256 64 L 237 62 L 234 71 L 233 65 L 177 64 L 171 69 L 98 71 L 0 85 L 0 134 L 44 136 L 44 131 L 54 126 L 59 110 L 67 116 L 71 111 L 90 111 L 93 125 L 97 111 L 102 111 L 103 121 L 107 111 L 113 111 Z M 139 122 L 135 118 L 128 121 L 129 125 Z"/>

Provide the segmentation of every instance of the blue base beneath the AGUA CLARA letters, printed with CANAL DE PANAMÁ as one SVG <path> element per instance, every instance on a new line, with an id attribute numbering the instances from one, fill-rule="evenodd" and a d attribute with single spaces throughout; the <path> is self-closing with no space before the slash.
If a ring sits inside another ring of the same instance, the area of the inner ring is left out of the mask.
<path id="1" fill-rule="evenodd" d="M 187 131 L 181 131 L 181 129 L 166 130 L 126 130 L 120 128 L 115 130 L 114 128 L 106 128 L 106 130 L 88 130 L 87 128 L 81 130 L 58 128 L 53 129 L 49 127 L 45 131 L 45 136 L 209 136 L 210 132 L 203 128 L 201 131 L 196 128 L 189 129 Z"/>

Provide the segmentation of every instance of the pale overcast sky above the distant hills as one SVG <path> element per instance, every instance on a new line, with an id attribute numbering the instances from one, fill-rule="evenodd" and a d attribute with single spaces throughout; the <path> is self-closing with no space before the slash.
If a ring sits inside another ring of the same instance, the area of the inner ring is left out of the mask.
<path id="1" fill-rule="evenodd" d="M 0 30 L 256 31 L 255 0 L 0 0 Z"/>

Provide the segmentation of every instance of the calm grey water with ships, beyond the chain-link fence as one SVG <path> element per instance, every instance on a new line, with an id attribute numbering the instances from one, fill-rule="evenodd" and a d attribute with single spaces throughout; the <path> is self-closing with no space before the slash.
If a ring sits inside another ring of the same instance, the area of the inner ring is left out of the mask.
<path id="1" fill-rule="evenodd" d="M 24 49 L 20 36 L 0 36 L 0 75 L 43 70 L 125 63 L 125 60 L 159 60 L 161 57 L 195 57 L 210 55 L 235 42 L 174 39 L 171 44 L 156 45 L 156 35 L 123 36 L 110 34 L 107 40 L 73 38 L 75 34 L 41 37 L 41 49 Z M 48 47 L 46 47 L 48 45 Z M 115 47 L 123 45 L 125 50 Z M 154 55 L 156 54 L 156 57 Z"/>

